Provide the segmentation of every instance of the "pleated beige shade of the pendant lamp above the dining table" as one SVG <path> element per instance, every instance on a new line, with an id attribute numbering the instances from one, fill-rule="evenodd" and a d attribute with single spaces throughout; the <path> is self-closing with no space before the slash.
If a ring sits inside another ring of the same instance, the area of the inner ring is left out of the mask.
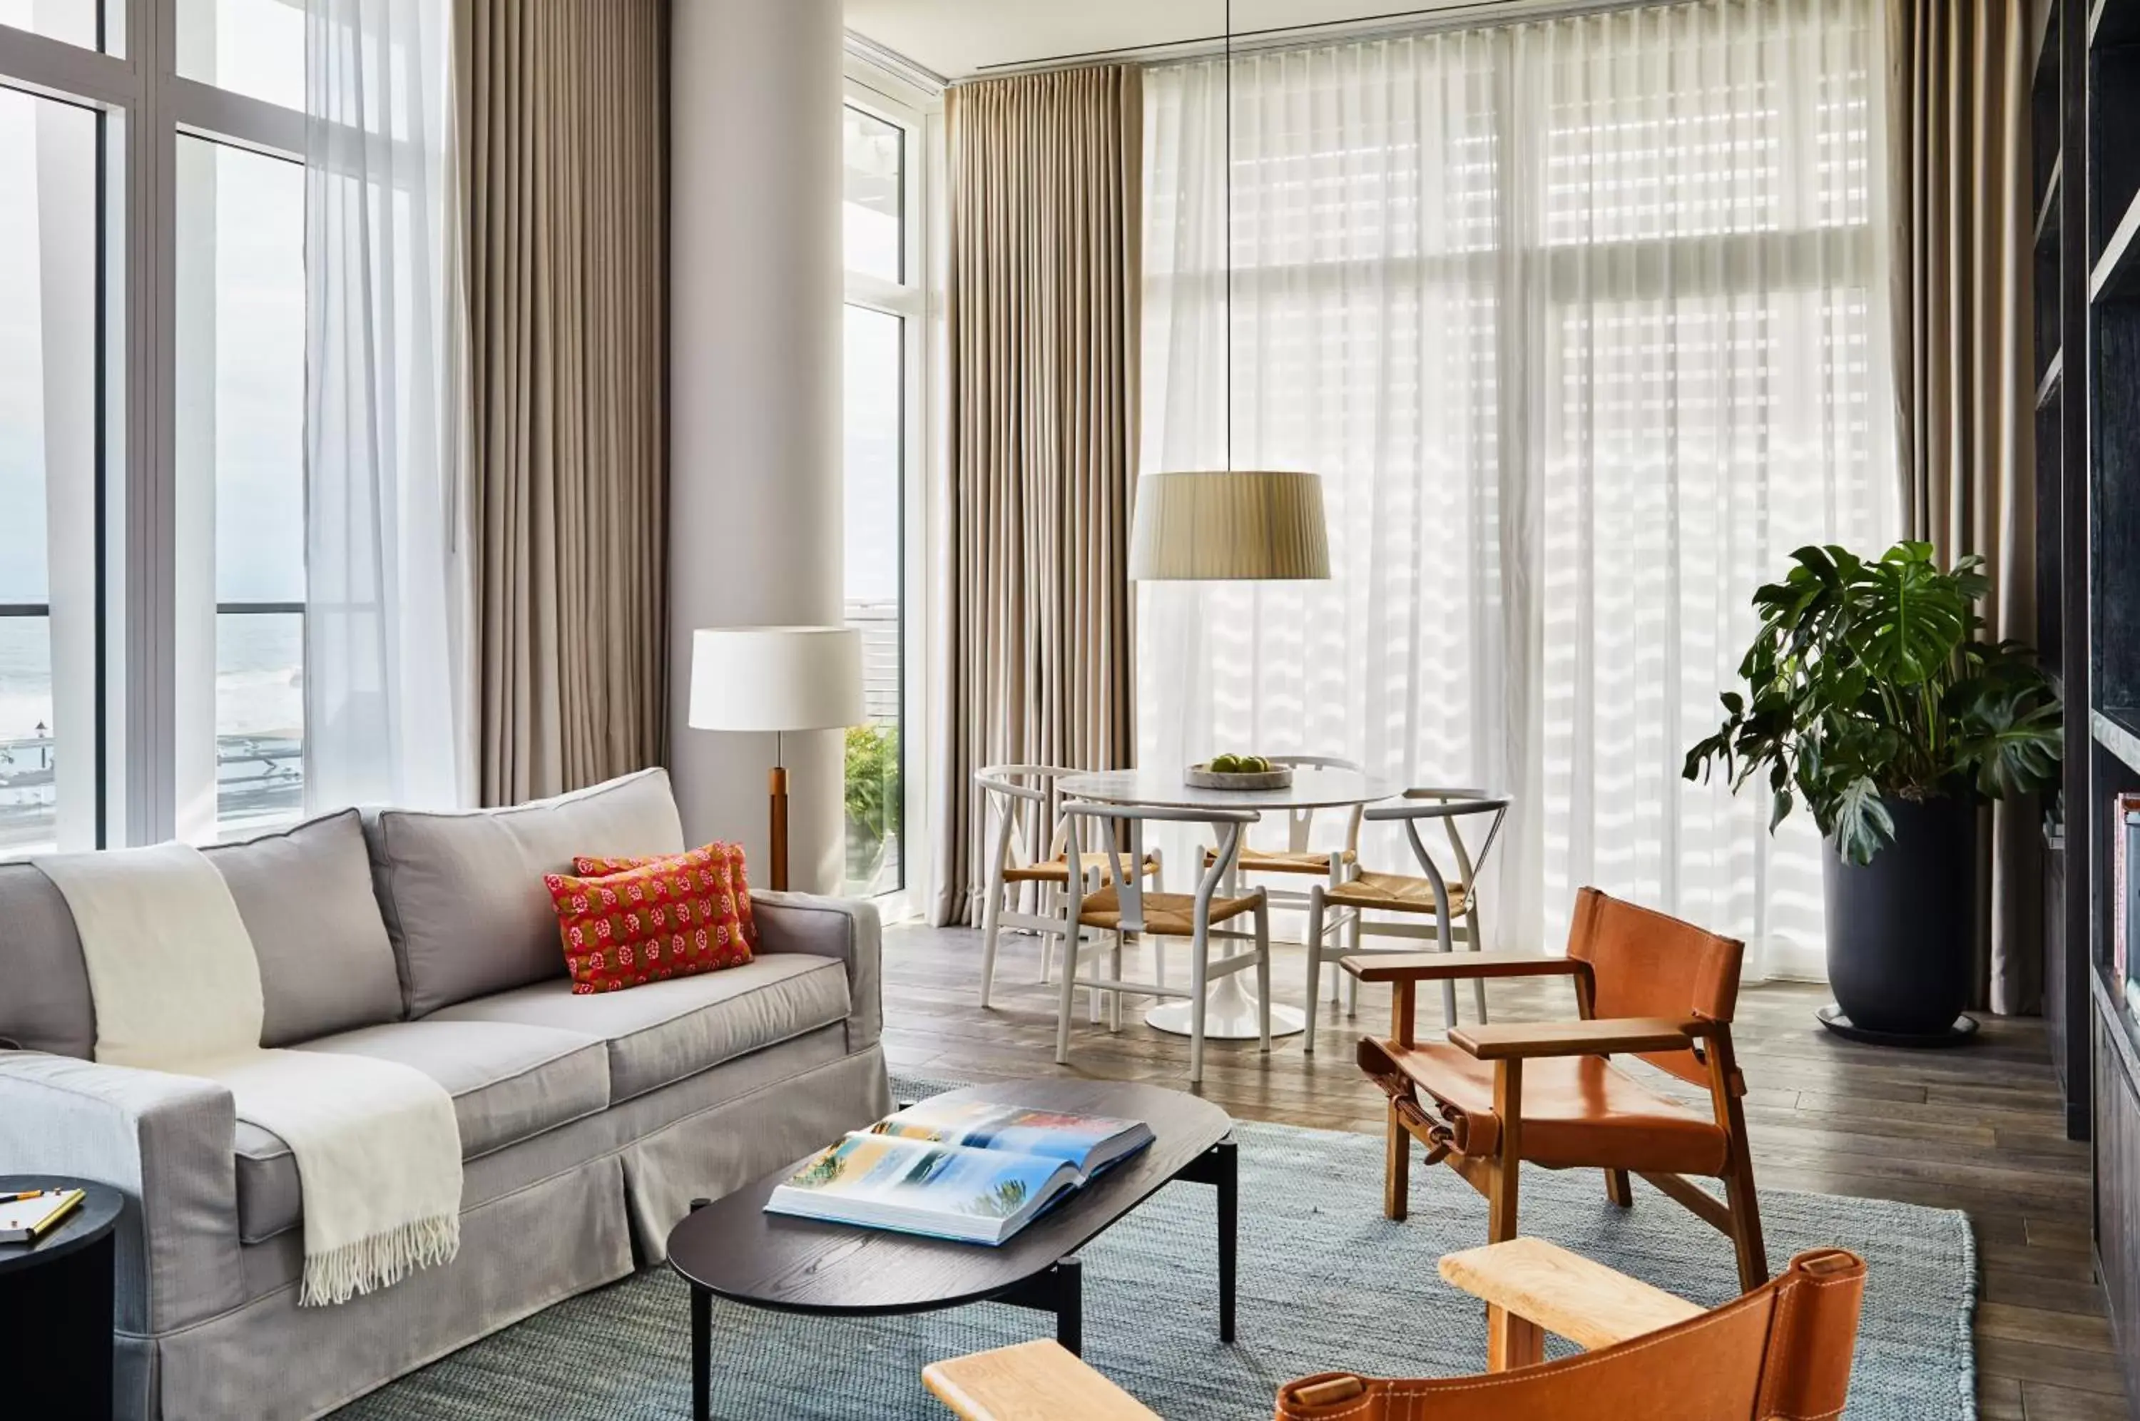
<path id="1" fill-rule="evenodd" d="M 1275 582 L 1331 576 L 1323 477 L 1226 469 L 1136 482 L 1130 576 L 1141 582 Z"/>

